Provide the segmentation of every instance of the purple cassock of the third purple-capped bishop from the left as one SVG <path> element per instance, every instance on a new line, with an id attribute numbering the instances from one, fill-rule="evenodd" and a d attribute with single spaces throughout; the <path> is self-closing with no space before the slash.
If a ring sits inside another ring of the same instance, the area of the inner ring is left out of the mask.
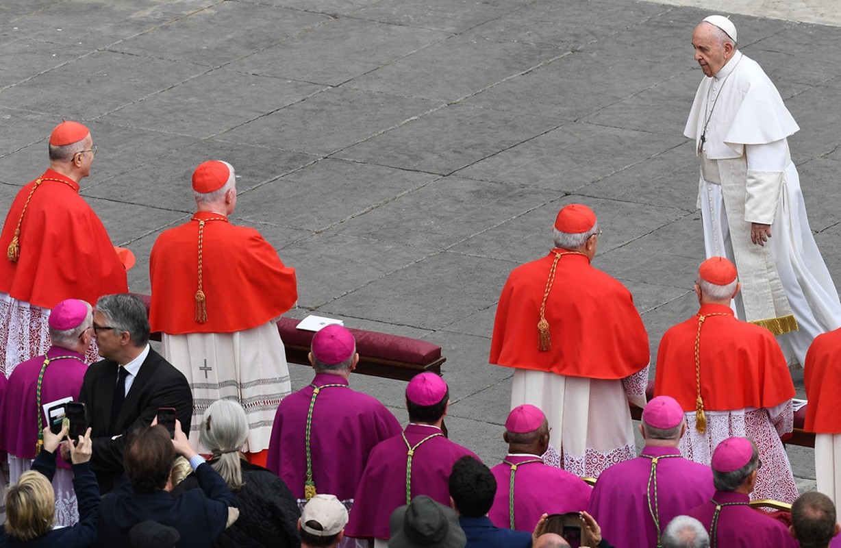
<path id="1" fill-rule="evenodd" d="M 421 424 L 409 424 L 404 430 L 413 447 L 421 439 L 438 432 L 441 432 L 440 428 Z M 411 497 L 426 495 L 449 506 L 448 481 L 452 465 L 465 455 L 479 460 L 473 451 L 443 436 L 426 440 L 415 450 L 412 459 Z M 401 435 L 386 439 L 371 451 L 368 466 L 365 466 L 359 481 L 345 535 L 389 538 L 391 513 L 406 503 L 406 460 L 408 450 Z"/>

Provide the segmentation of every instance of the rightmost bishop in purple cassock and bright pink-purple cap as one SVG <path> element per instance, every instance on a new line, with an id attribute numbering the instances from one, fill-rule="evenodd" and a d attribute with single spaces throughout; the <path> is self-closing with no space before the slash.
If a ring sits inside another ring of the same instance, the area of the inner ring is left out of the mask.
<path id="1" fill-rule="evenodd" d="M 747 438 L 727 438 L 712 454 L 716 491 L 709 502 L 686 515 L 710 532 L 711 548 L 796 548 L 797 541 L 780 521 L 748 506 L 759 470 L 759 451 Z"/>

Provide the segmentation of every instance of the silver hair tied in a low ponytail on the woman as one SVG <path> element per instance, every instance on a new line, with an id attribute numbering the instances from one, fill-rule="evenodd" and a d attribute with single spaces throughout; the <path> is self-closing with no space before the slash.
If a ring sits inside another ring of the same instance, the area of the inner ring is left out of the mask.
<path id="1" fill-rule="evenodd" d="M 213 453 L 212 466 L 231 491 L 239 491 L 244 485 L 239 450 L 247 437 L 248 420 L 239 402 L 216 400 L 199 423 L 198 443 Z"/>

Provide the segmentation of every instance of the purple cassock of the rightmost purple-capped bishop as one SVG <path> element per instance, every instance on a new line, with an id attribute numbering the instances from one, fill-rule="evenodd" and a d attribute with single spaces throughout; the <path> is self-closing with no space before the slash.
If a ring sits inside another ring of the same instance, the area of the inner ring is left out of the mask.
<path id="1" fill-rule="evenodd" d="M 762 510 L 754 510 L 748 506 L 748 495 L 740 492 L 716 491 L 712 500 L 690 508 L 686 515 L 691 516 L 710 530 L 712 517 L 716 511 L 716 503 L 732 504 L 724 506 L 718 514 L 716 539 L 710 534 L 710 545 L 717 548 L 757 548 L 758 546 L 774 546 L 774 548 L 796 548 L 799 543 L 791 538 L 788 528 L 771 518 Z M 715 501 L 713 503 L 712 501 Z"/>

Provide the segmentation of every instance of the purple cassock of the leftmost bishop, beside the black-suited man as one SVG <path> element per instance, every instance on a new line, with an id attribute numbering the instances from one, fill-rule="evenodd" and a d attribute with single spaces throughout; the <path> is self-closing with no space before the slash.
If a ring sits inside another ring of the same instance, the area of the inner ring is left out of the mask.
<path id="1" fill-rule="evenodd" d="M 55 359 L 47 365 L 44 380 L 41 382 L 41 405 L 55 402 L 61 398 L 71 396 L 74 401 L 79 399 L 79 390 L 85 378 L 87 364 L 82 354 L 51 346 L 47 350 L 47 358 L 72 356 L 67 359 Z M 8 379 L 5 396 L 3 396 L 3 415 L 0 420 L 0 447 L 20 459 L 35 458 L 35 444 L 38 441 L 38 414 L 35 411 L 35 389 L 38 385 L 38 375 L 45 357 L 35 356 L 19 364 L 12 371 Z M 47 418 L 43 408 L 39 410 L 42 418 L 42 428 L 45 428 Z M 58 465 L 70 468 L 63 460 L 57 459 Z"/>

